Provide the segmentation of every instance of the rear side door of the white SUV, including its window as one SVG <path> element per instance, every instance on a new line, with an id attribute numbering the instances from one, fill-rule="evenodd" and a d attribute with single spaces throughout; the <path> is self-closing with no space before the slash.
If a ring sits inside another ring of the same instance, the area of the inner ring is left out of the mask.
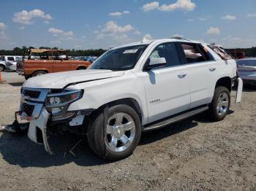
<path id="1" fill-rule="evenodd" d="M 190 89 L 190 106 L 195 108 L 211 103 L 218 78 L 218 62 L 202 44 L 179 43 L 186 66 Z"/>

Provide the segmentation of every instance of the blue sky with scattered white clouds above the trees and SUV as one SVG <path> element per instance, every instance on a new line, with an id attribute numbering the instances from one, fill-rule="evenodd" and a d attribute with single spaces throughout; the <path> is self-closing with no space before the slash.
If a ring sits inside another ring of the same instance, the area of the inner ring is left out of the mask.
<path id="1" fill-rule="evenodd" d="M 108 49 L 173 36 L 256 47 L 256 0 L 1 0 L 0 49 Z"/>

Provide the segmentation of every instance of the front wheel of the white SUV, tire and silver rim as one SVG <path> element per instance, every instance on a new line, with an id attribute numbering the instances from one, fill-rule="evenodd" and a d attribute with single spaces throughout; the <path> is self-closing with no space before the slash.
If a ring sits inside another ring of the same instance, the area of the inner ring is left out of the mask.
<path id="1" fill-rule="evenodd" d="M 92 151 L 105 160 L 121 160 L 137 147 L 141 125 L 137 112 L 124 104 L 96 112 L 89 123 L 87 139 Z M 106 123 L 106 124 L 105 124 Z"/>

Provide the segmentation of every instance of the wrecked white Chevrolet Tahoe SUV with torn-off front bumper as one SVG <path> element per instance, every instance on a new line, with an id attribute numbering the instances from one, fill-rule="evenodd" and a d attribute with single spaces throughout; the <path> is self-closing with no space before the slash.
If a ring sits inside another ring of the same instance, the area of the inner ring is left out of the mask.
<path id="1" fill-rule="evenodd" d="M 108 50 L 89 69 L 33 77 L 21 88 L 18 117 L 29 139 L 48 144 L 48 131 L 80 130 L 106 160 L 132 154 L 140 134 L 208 112 L 223 120 L 238 81 L 236 61 L 186 39 L 137 42 Z"/>

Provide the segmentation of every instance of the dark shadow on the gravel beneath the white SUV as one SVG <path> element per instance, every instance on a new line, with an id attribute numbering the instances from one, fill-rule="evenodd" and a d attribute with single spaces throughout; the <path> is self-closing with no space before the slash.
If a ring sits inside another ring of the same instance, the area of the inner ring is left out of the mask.
<path id="1" fill-rule="evenodd" d="M 232 114 L 233 111 L 229 112 Z M 206 114 L 199 114 L 187 120 L 177 122 L 159 130 L 143 133 L 139 145 L 151 144 L 154 141 L 165 139 L 167 136 L 173 136 L 185 130 L 196 128 L 198 122 L 208 123 Z M 83 139 L 73 152 L 76 157 L 69 153 L 71 149 L 81 138 L 71 133 L 64 132 L 58 136 L 50 135 L 49 143 L 54 155 L 45 152 L 43 145 L 35 144 L 29 140 L 26 133 L 12 134 L 2 133 L 0 136 L 0 155 L 3 160 L 11 165 L 20 167 L 49 167 L 59 166 L 67 163 L 76 163 L 81 166 L 104 165 L 110 162 L 97 157 L 89 148 L 86 139 Z"/>

